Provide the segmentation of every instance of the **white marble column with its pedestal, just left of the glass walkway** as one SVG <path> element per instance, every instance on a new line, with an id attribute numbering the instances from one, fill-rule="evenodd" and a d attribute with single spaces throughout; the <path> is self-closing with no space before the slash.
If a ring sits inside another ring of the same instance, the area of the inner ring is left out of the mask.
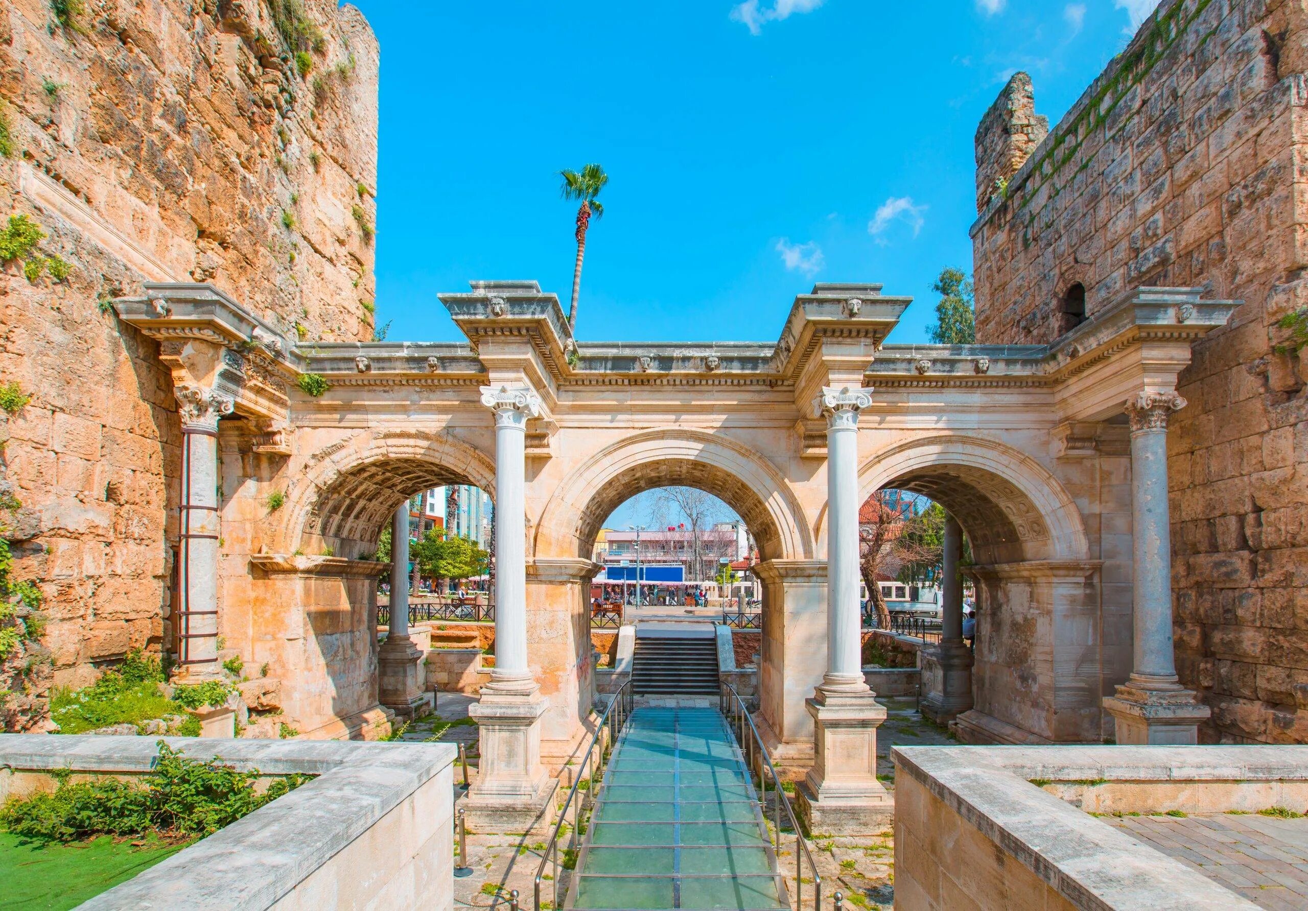
<path id="1" fill-rule="evenodd" d="M 494 412 L 494 671 L 468 708 L 477 721 L 481 766 L 468 791 L 468 825 L 521 833 L 548 822 L 548 775 L 540 763 L 540 718 L 548 701 L 527 664 L 527 420 L 540 397 L 526 386 L 485 386 Z"/>

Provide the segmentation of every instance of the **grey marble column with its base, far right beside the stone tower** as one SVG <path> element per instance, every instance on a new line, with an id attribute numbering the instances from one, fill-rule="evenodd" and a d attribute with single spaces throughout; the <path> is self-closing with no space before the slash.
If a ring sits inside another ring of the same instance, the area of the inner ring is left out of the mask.
<path id="1" fill-rule="evenodd" d="M 1167 420 L 1185 408 L 1176 392 L 1126 401 L 1131 425 L 1131 674 L 1104 699 L 1118 744 L 1194 744 L 1210 710 L 1181 686 L 1172 650 L 1172 535 L 1167 494 Z"/>

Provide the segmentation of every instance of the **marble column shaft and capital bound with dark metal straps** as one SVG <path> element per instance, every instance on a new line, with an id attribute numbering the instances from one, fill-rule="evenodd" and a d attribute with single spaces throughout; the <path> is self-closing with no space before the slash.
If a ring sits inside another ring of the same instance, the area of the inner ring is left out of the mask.
<path id="1" fill-rule="evenodd" d="M 212 680 L 218 665 L 218 418 L 232 397 L 199 386 L 174 389 L 182 418 L 178 548 L 178 678 Z"/>

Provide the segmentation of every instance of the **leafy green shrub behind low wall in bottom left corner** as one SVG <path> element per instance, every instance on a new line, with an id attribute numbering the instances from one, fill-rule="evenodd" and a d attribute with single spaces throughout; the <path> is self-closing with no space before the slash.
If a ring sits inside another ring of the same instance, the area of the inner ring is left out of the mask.
<path id="1" fill-rule="evenodd" d="M 73 842 L 94 835 L 120 838 L 161 833 L 203 838 L 298 788 L 311 776 L 276 779 L 263 793 L 254 788 L 258 770 L 188 759 L 158 741 L 158 761 L 140 784 L 116 779 L 71 783 L 54 793 L 12 800 L 0 822 L 13 834 L 43 842 Z"/>

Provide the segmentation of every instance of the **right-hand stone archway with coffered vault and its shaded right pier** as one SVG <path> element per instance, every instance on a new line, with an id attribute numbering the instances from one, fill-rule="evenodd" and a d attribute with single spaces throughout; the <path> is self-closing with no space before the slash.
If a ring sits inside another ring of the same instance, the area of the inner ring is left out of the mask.
<path id="1" fill-rule="evenodd" d="M 974 707 L 959 716 L 960 736 L 1097 741 L 1107 689 L 1099 561 L 1062 484 L 1003 443 L 950 435 L 867 460 L 859 502 L 887 488 L 940 503 L 972 544 L 964 572 L 977 587 Z"/>

